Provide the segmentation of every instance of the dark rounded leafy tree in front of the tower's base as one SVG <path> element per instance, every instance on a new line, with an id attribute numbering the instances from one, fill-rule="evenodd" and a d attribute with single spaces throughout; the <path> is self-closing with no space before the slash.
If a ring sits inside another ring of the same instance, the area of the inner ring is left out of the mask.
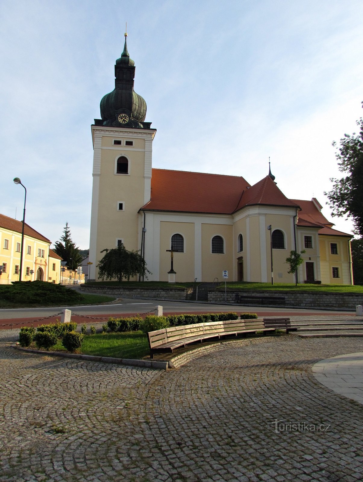
<path id="1" fill-rule="evenodd" d="M 112 280 L 118 278 L 121 282 L 122 278 L 126 278 L 127 281 L 130 281 L 132 276 L 140 273 L 145 276 L 146 273 L 150 273 L 145 260 L 138 251 L 127 251 L 125 246 L 121 244 L 117 248 L 101 251 L 101 253 L 105 252 L 106 254 L 97 265 L 98 279 Z"/>

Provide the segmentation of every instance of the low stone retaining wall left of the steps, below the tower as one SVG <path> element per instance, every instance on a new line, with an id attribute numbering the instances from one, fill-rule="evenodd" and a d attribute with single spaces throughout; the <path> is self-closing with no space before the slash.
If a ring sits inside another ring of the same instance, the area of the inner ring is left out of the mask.
<path id="1" fill-rule="evenodd" d="M 119 298 L 151 298 L 161 300 L 185 301 L 191 288 L 122 288 L 121 286 L 88 285 L 80 286 L 85 293 L 118 296 Z"/>

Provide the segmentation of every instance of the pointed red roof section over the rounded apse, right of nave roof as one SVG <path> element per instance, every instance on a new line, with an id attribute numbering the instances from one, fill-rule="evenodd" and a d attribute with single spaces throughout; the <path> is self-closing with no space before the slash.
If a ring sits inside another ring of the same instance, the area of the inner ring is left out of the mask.
<path id="1" fill-rule="evenodd" d="M 258 181 L 242 193 L 235 211 L 238 211 L 244 206 L 253 206 L 256 204 L 299 207 L 294 201 L 287 199 L 269 176 L 264 177 L 261 181 Z"/>

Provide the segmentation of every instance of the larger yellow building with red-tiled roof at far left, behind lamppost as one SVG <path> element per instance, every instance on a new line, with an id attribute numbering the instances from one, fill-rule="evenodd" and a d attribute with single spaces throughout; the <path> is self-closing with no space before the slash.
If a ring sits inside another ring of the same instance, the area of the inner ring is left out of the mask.
<path id="1" fill-rule="evenodd" d="M 0 284 L 19 281 L 22 227 L 22 221 L 0 214 Z M 49 239 L 25 224 L 22 281 L 59 283 L 62 258 L 50 245 Z"/>

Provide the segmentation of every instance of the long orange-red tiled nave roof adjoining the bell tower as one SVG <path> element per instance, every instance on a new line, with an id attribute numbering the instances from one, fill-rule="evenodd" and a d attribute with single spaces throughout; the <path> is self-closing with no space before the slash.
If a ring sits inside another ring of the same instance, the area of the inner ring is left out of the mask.
<path id="1" fill-rule="evenodd" d="M 240 176 L 153 169 L 151 200 L 141 209 L 231 214 L 249 186 Z"/>

